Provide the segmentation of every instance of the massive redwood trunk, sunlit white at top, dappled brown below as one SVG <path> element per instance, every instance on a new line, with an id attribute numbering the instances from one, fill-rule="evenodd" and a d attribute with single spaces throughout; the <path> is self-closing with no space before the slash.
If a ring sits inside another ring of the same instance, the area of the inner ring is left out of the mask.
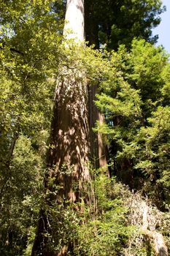
<path id="1" fill-rule="evenodd" d="M 67 39 L 73 39 L 72 42 L 77 44 L 84 41 L 84 0 L 67 1 L 63 35 L 66 45 Z M 53 207 L 53 201 L 58 205 L 79 202 L 80 197 L 84 198 L 85 203 L 89 201 L 88 193 L 83 194 L 85 181 L 90 178 L 87 86 L 81 71 L 74 67 L 61 67 L 60 74 L 55 90 L 50 150 L 47 153 L 48 171 L 45 177 L 46 203 L 50 207 Z M 55 187 L 59 187 L 57 195 L 50 182 L 52 180 Z M 62 244 L 59 252 L 49 249 L 47 235 L 52 229 L 47 211 L 42 208 L 32 256 L 67 255 L 72 242 Z"/>

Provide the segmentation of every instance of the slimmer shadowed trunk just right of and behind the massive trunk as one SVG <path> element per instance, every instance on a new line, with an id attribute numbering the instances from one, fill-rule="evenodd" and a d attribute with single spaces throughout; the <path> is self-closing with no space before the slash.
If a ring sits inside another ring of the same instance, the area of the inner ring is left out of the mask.
<path id="1" fill-rule="evenodd" d="M 99 48 L 98 42 L 98 23 L 94 16 L 94 3 L 91 1 L 85 1 L 85 39 L 90 45 L 95 45 L 95 48 Z M 100 124 L 104 122 L 104 116 L 100 110 L 96 108 L 94 101 L 96 100 L 96 93 L 98 91 L 98 85 L 88 86 L 88 109 L 89 109 L 89 127 L 90 127 L 90 161 L 94 167 L 106 167 L 107 166 L 107 146 L 101 134 L 93 132 L 93 127 L 96 125 L 96 121 Z M 108 172 L 109 175 L 109 172 Z"/>

